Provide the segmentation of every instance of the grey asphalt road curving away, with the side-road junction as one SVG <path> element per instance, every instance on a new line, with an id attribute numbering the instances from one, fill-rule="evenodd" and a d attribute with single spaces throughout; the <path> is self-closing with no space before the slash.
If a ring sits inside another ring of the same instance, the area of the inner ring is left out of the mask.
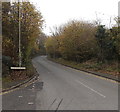
<path id="1" fill-rule="evenodd" d="M 3 95 L 4 109 L 118 110 L 117 83 L 51 62 L 45 56 L 34 58 L 33 64 L 44 82 L 43 89 L 32 91 L 30 85 Z M 8 103 L 11 99 L 13 103 Z"/>

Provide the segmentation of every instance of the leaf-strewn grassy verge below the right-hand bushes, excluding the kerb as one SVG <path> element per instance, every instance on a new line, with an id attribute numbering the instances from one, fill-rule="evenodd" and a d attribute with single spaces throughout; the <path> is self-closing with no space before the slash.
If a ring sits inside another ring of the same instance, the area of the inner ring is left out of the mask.
<path id="1" fill-rule="evenodd" d="M 118 68 L 118 62 L 116 61 L 112 61 L 109 63 L 97 63 L 96 60 L 88 60 L 86 62 L 77 63 L 73 61 L 67 61 L 62 58 L 55 58 L 55 59 L 48 58 L 48 59 L 80 70 L 99 72 L 99 73 L 114 75 L 116 77 L 120 76 L 120 68 Z"/>

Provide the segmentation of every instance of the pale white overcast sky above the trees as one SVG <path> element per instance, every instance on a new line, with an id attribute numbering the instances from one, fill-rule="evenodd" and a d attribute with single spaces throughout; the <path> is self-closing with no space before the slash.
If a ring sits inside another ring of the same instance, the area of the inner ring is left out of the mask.
<path id="1" fill-rule="evenodd" d="M 120 0 L 30 0 L 42 13 L 45 20 L 44 32 L 50 34 L 53 27 L 69 20 L 94 21 L 101 19 L 109 27 L 115 24 Z M 110 23 L 111 18 L 111 24 Z"/>

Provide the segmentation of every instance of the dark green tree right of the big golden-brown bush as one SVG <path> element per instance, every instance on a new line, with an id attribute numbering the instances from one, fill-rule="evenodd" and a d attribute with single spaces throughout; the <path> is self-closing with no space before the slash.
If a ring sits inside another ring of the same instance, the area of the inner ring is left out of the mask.
<path id="1" fill-rule="evenodd" d="M 117 28 L 118 29 L 118 28 Z M 116 36 L 118 31 L 115 27 L 112 29 L 105 29 L 104 25 L 98 26 L 96 32 L 96 39 L 99 46 L 98 60 L 105 62 L 105 60 L 115 59 L 116 56 Z"/>

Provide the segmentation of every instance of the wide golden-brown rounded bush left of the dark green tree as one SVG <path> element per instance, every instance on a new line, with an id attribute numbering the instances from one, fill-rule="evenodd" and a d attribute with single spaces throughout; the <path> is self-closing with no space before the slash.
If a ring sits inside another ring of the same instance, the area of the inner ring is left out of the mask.
<path id="1" fill-rule="evenodd" d="M 46 49 L 51 57 L 81 62 L 96 55 L 96 28 L 93 24 L 70 21 L 57 28 L 46 41 Z"/>

